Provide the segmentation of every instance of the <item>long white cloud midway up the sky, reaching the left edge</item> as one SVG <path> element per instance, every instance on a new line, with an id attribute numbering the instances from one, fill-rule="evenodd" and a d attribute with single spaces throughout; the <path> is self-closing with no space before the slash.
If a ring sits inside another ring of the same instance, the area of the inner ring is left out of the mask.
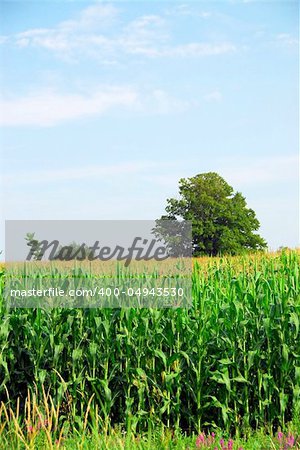
<path id="1" fill-rule="evenodd" d="M 46 89 L 23 97 L 0 98 L 0 126 L 50 127 L 125 110 L 139 116 L 180 114 L 197 106 L 194 100 L 177 98 L 155 88 L 102 86 L 84 93 Z"/>

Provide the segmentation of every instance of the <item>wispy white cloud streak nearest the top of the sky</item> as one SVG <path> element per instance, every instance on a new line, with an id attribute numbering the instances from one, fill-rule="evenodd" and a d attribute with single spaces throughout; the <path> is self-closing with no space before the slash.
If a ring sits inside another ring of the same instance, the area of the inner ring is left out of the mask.
<path id="1" fill-rule="evenodd" d="M 177 8 L 183 15 L 192 15 L 184 5 Z M 35 28 L 2 36 L 0 43 L 19 48 L 41 48 L 66 61 L 90 57 L 99 62 L 122 55 L 203 57 L 236 50 L 236 46 L 228 41 L 203 40 L 175 45 L 168 14 L 143 15 L 125 25 L 118 22 L 118 26 L 112 28 L 118 15 L 119 11 L 112 5 L 94 5 L 82 10 L 77 18 L 60 22 L 53 28 Z M 207 18 L 210 13 L 204 11 L 197 15 Z"/>

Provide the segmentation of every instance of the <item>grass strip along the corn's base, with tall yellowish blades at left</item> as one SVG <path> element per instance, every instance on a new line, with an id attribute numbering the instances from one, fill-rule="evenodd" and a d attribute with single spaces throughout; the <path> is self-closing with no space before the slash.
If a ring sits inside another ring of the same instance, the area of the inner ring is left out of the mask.
<path id="1" fill-rule="evenodd" d="M 76 427 L 71 430 L 70 423 L 60 418 L 59 407 L 43 391 L 43 398 L 28 392 L 25 401 L 25 415 L 20 413 L 19 404 L 15 409 L 4 403 L 0 406 L 0 449 L 21 450 L 153 450 L 153 449 L 221 449 L 255 450 L 300 448 L 299 427 L 289 424 L 285 433 L 269 435 L 265 430 L 251 432 L 246 437 L 230 438 L 220 430 L 212 433 L 201 432 L 190 435 L 180 430 L 160 427 L 140 434 L 127 432 L 121 428 L 105 432 L 97 411 L 92 408 L 90 399 L 84 414 L 78 417 Z"/>

